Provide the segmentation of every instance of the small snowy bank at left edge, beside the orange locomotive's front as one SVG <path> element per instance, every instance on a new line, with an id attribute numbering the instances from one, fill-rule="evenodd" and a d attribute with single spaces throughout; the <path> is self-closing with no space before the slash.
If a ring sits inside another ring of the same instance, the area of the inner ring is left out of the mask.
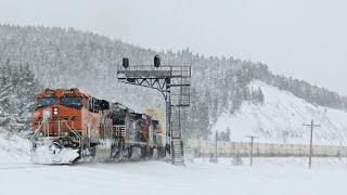
<path id="1" fill-rule="evenodd" d="M 28 162 L 30 142 L 0 127 L 0 164 Z"/>

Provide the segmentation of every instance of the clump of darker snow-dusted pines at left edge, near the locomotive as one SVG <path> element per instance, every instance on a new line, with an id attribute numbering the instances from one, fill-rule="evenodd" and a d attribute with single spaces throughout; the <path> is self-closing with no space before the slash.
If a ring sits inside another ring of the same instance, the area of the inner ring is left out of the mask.
<path id="1" fill-rule="evenodd" d="M 29 65 L 0 63 L 0 126 L 11 130 L 29 130 L 34 96 L 41 90 Z"/>

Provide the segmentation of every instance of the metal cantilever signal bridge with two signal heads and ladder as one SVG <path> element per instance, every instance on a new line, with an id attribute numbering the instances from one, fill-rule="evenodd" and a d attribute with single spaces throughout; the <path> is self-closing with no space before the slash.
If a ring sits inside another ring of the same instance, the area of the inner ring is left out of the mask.
<path id="1" fill-rule="evenodd" d="M 158 55 L 152 65 L 131 65 L 123 58 L 117 69 L 118 81 L 156 89 L 166 102 L 166 152 L 174 165 L 184 165 L 181 113 L 190 106 L 191 66 L 160 66 Z"/>

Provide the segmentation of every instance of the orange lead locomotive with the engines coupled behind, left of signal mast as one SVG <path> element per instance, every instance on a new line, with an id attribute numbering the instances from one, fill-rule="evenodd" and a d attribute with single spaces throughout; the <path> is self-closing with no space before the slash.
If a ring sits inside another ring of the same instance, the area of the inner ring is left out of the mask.
<path id="1" fill-rule="evenodd" d="M 158 120 L 78 89 L 35 98 L 31 161 L 74 164 L 164 157 Z"/>

